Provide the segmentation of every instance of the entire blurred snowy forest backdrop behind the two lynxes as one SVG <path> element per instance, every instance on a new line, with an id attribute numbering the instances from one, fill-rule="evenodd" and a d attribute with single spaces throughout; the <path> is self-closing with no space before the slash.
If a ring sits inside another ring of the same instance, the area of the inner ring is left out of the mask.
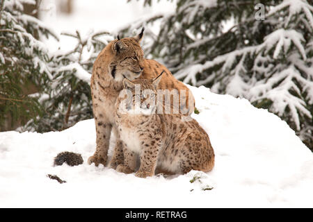
<path id="1" fill-rule="evenodd" d="M 277 114 L 313 151 L 312 0 L 0 1 L 0 131 L 93 118 L 95 58 L 145 26 L 145 57 Z"/>

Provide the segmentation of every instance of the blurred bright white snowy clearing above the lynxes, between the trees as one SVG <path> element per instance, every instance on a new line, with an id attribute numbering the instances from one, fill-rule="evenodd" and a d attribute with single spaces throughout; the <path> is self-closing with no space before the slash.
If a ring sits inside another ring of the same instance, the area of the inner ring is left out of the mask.
<path id="1" fill-rule="evenodd" d="M 59 0 L 62 1 L 62 0 Z M 64 15 L 56 10 L 57 0 L 42 0 L 40 7 L 40 19 L 54 30 L 54 33 L 75 33 L 79 31 L 82 35 L 101 31 L 109 31 L 114 35 L 131 24 L 130 30 L 138 26 L 145 26 L 143 19 L 166 16 L 175 11 L 176 0 L 153 0 L 152 6 L 143 6 L 142 1 L 115 1 L 115 0 L 75 0 L 73 1 L 72 15 Z M 141 20 L 141 21 L 139 21 Z M 141 27 L 139 27 L 141 29 Z M 145 27 L 145 33 L 153 31 L 157 33 L 158 26 Z M 150 30 L 152 29 L 152 30 Z M 58 36 L 58 35 L 57 35 Z M 59 48 L 65 51 L 73 49 L 75 42 L 72 37 L 59 36 L 60 42 L 47 40 L 51 51 Z"/>

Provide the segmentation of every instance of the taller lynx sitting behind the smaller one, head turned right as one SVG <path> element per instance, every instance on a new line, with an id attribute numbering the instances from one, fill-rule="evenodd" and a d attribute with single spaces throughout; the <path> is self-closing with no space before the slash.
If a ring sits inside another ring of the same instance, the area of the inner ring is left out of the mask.
<path id="1" fill-rule="evenodd" d="M 180 96 L 182 108 L 188 110 L 187 114 L 193 112 L 194 99 L 188 88 L 159 62 L 143 58 L 143 50 L 140 42 L 143 38 L 143 31 L 134 37 L 118 37 L 111 41 L 99 53 L 93 65 L 93 75 L 91 76 L 90 89 L 93 99 L 93 114 L 95 117 L 95 127 L 97 133 L 97 148 L 95 154 L 88 159 L 88 164 L 95 163 L 106 165 L 107 153 L 111 130 L 118 137 L 118 130 L 114 120 L 114 104 L 123 88 L 122 80 L 128 78 L 155 78 L 164 69 L 164 76 L 159 84 L 161 89 L 185 89 L 186 98 Z M 188 103 L 188 101 L 192 101 Z M 122 163 L 124 156 L 122 153 L 122 143 L 117 140 L 110 166 L 115 169 Z"/>

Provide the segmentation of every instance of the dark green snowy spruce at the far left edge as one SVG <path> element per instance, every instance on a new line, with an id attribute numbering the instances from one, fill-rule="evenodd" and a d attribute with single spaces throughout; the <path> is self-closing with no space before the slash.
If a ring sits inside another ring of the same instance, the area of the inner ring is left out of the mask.
<path id="1" fill-rule="evenodd" d="M 0 1 L 0 128 L 8 119 L 29 119 L 42 114 L 38 99 L 28 94 L 29 86 L 44 90 L 53 77 L 47 67 L 45 44 L 35 35 L 56 37 L 38 19 L 23 13 L 23 3 L 33 0 Z"/>

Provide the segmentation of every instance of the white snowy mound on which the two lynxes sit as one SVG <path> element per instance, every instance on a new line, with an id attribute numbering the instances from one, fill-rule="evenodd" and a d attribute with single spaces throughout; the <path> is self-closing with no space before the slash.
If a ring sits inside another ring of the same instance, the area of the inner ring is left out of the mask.
<path id="1" fill-rule="evenodd" d="M 213 171 L 143 179 L 88 165 L 93 119 L 63 132 L 5 132 L 0 207 L 313 207 L 313 153 L 287 123 L 246 99 L 191 89 L 200 111 L 193 117 L 216 154 Z M 61 151 L 81 153 L 84 163 L 53 167 Z"/>

